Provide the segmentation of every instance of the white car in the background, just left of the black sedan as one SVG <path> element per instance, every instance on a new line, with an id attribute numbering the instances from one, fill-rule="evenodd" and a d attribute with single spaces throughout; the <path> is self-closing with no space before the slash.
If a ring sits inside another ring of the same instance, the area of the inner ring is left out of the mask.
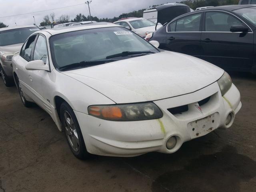
<path id="1" fill-rule="evenodd" d="M 154 32 L 156 27 L 156 23 L 145 18 L 122 19 L 114 22 L 114 24 L 126 27 L 143 38 L 146 37 L 147 34 Z M 161 26 L 162 25 L 158 25 L 157 28 Z"/>

